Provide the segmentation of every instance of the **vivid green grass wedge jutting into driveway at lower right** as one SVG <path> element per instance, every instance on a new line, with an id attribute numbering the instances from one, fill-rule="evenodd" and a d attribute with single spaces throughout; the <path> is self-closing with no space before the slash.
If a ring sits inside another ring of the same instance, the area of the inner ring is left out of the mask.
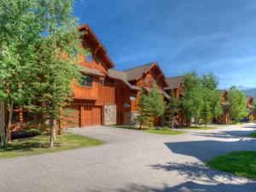
<path id="1" fill-rule="evenodd" d="M 237 176 L 256 178 L 256 151 L 234 151 L 207 161 L 207 166 Z"/>

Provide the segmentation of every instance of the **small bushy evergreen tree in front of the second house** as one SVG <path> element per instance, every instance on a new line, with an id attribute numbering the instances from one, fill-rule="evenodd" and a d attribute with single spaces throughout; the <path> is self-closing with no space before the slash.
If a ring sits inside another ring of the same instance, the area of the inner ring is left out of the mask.
<path id="1" fill-rule="evenodd" d="M 165 113 L 166 102 L 164 102 L 163 95 L 155 84 L 148 93 L 141 93 L 138 107 L 140 129 L 142 125 L 152 126 L 152 120 Z"/>

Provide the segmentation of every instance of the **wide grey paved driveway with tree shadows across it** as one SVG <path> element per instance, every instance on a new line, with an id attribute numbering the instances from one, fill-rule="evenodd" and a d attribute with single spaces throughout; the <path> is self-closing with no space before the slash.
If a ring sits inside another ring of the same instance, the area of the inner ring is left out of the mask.
<path id="1" fill-rule="evenodd" d="M 255 150 L 255 126 L 219 126 L 165 136 L 110 127 L 73 129 L 102 146 L 0 160 L 1 192 L 256 191 L 256 181 L 202 163 L 232 150 Z"/>

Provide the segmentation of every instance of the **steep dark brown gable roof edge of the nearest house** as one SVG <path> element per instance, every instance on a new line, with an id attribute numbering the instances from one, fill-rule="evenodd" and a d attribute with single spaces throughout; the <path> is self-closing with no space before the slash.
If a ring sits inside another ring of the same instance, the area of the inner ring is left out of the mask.
<path id="1" fill-rule="evenodd" d="M 79 26 L 79 31 L 85 31 L 85 37 L 88 37 L 94 44 L 96 44 L 99 48 L 99 51 L 102 53 L 103 60 L 107 62 L 109 68 L 113 68 L 113 61 L 108 56 L 107 49 L 104 48 L 102 42 L 96 37 L 96 34 L 91 30 L 88 24 L 84 24 Z"/>

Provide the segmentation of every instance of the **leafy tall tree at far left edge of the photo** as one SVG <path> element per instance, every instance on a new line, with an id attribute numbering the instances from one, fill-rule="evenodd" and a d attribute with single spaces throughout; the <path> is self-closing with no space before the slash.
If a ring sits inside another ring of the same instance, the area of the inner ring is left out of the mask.
<path id="1" fill-rule="evenodd" d="M 27 100 L 32 82 L 36 44 L 41 38 L 38 3 L 28 0 L 2 0 L 0 3 L 0 101 L 2 115 L 8 111 L 7 126 L 2 121 L 2 146 L 7 147 L 14 106 Z M 6 126 L 6 129 L 5 129 Z"/>

